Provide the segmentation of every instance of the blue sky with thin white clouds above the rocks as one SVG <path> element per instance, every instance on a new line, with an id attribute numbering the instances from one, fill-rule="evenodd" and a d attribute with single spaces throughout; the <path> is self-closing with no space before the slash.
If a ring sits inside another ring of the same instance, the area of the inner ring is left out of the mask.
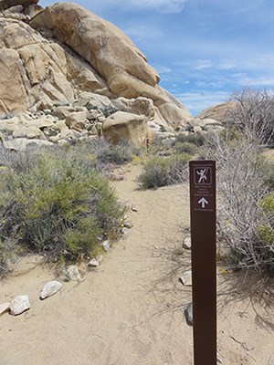
<path id="1" fill-rule="evenodd" d="M 40 0 L 39 5 L 56 3 Z M 160 85 L 196 115 L 274 87 L 273 0 L 75 0 L 131 37 Z"/>

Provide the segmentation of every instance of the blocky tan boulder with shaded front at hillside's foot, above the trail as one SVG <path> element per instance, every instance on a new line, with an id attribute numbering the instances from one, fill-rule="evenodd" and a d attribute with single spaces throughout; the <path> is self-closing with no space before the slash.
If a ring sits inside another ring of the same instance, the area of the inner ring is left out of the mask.
<path id="1" fill-rule="evenodd" d="M 103 134 L 106 140 L 114 144 L 129 140 L 136 146 L 141 146 L 148 137 L 147 118 L 143 115 L 117 111 L 103 123 Z"/>

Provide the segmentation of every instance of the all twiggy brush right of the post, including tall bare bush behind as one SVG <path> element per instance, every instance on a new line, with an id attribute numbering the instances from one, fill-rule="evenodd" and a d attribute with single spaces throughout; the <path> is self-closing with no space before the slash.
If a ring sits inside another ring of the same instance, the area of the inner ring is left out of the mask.
<path id="1" fill-rule="evenodd" d="M 274 275 L 273 147 L 274 98 L 267 91 L 235 94 L 226 130 L 209 134 L 203 157 L 216 160 L 219 193 L 217 229 L 234 268 Z"/>

